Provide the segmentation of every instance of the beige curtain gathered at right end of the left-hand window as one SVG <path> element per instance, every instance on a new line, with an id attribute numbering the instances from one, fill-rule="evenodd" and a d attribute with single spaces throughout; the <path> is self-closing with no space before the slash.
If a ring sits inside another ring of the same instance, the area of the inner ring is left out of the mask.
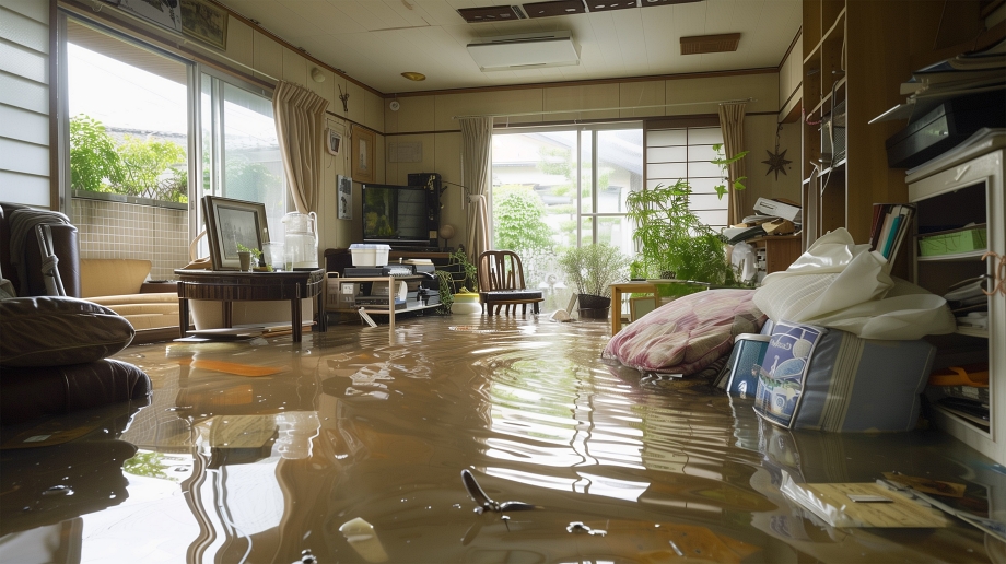
<path id="1" fill-rule="evenodd" d="M 327 107 L 327 99 L 289 82 L 280 81 L 272 93 L 276 134 L 283 155 L 286 186 L 301 213 L 318 210 Z"/>

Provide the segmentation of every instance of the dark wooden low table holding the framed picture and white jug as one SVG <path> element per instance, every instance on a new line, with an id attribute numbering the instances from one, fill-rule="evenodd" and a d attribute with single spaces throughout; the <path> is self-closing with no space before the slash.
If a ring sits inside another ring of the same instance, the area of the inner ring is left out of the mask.
<path id="1" fill-rule="evenodd" d="M 318 330 L 324 332 L 325 270 L 294 270 L 286 272 L 241 272 L 236 270 L 176 270 L 178 280 L 178 319 L 182 337 L 188 329 L 189 299 L 221 302 L 223 325 L 231 327 L 232 302 L 290 301 L 290 322 L 293 342 L 301 342 L 303 319 L 301 299 L 317 297 Z"/>

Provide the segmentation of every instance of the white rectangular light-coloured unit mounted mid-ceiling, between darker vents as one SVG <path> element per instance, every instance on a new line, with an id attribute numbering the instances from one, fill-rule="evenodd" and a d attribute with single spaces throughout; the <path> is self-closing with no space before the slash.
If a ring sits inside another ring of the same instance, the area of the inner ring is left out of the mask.
<path id="1" fill-rule="evenodd" d="M 580 64 L 580 49 L 570 32 L 486 37 L 468 44 L 482 72 Z"/>

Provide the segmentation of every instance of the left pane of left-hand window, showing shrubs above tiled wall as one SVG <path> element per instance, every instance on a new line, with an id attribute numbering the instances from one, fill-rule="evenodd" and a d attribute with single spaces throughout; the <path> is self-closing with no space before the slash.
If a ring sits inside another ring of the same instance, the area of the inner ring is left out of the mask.
<path id="1" fill-rule="evenodd" d="M 192 63 L 66 19 L 69 205 L 82 258 L 189 260 Z"/>

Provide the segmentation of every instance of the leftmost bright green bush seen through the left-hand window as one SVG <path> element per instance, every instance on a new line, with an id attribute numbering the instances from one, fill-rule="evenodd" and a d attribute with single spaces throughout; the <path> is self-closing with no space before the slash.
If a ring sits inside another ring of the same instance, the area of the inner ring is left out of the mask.
<path id="1" fill-rule="evenodd" d="M 122 162 L 105 126 L 83 114 L 70 118 L 70 186 L 104 192 L 109 183 L 124 178 Z"/>

